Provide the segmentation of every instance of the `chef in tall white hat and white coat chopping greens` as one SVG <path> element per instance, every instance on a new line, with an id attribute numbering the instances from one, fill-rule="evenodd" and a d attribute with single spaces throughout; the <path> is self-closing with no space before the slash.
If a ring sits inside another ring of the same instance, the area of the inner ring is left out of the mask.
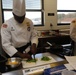
<path id="1" fill-rule="evenodd" d="M 26 18 L 25 0 L 13 0 L 13 16 L 1 26 L 3 50 L 9 57 L 31 59 L 38 44 L 33 22 Z"/>

